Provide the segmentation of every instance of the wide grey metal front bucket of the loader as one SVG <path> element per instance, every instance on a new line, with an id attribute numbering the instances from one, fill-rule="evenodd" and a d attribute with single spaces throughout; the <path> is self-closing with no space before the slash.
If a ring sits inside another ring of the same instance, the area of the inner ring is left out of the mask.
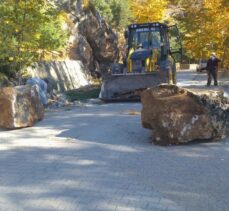
<path id="1" fill-rule="evenodd" d="M 99 98 L 105 102 L 140 101 L 140 93 L 167 82 L 163 71 L 145 74 L 111 75 L 102 84 Z"/>

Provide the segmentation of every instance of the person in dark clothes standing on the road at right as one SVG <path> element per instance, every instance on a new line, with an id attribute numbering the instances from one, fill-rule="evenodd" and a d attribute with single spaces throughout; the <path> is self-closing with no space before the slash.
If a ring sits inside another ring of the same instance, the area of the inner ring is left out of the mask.
<path id="1" fill-rule="evenodd" d="M 217 71 L 218 71 L 219 62 L 221 62 L 221 60 L 216 57 L 215 53 L 212 53 L 210 59 L 208 59 L 207 67 L 206 67 L 207 72 L 208 72 L 207 86 L 211 85 L 212 77 L 214 79 L 214 85 L 218 86 Z"/>

